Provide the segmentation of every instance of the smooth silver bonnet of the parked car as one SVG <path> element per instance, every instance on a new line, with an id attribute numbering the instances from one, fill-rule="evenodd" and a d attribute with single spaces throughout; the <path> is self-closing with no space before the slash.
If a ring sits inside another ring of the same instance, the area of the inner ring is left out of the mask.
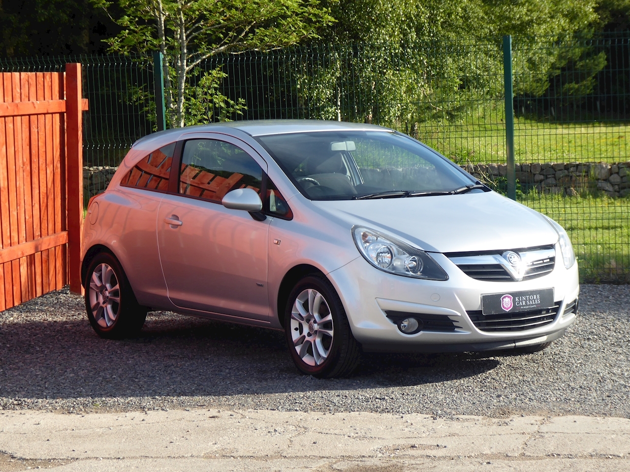
<path id="1" fill-rule="evenodd" d="M 314 201 L 350 225 L 365 225 L 433 252 L 520 249 L 555 244 L 544 217 L 495 192 Z"/>

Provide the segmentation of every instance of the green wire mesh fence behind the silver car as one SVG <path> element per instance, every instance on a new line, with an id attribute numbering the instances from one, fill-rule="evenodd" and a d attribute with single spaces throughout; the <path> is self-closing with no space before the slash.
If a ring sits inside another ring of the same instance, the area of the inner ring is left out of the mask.
<path id="1" fill-rule="evenodd" d="M 0 70 L 83 64 L 89 195 L 108 183 L 108 169 L 98 167 L 115 168 L 156 129 L 152 60 L 3 59 Z M 204 59 L 180 89 L 178 57 L 165 57 L 166 122 L 375 123 L 420 139 L 505 193 L 503 60 L 501 38 L 282 48 Z M 512 64 L 518 201 L 568 230 L 583 281 L 629 282 L 630 33 L 514 38 Z"/>

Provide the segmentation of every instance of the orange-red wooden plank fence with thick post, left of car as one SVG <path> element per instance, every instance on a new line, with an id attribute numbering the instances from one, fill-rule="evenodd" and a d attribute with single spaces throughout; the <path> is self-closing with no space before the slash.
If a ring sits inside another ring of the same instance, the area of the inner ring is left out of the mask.
<path id="1" fill-rule="evenodd" d="M 81 292 L 81 64 L 0 74 L 0 311 Z"/>

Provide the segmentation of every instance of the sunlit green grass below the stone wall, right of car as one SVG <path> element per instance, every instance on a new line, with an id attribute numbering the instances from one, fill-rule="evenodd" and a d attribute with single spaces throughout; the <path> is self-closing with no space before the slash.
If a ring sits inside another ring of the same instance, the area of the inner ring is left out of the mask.
<path id="1" fill-rule="evenodd" d="M 629 198 L 530 193 L 521 203 L 566 229 L 578 257 L 581 282 L 630 283 Z"/>

